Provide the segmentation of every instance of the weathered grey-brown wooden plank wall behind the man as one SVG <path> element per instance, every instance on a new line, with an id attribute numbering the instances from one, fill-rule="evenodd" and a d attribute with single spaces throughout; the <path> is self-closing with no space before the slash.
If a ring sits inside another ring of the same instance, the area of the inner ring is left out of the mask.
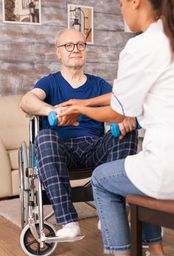
<path id="1" fill-rule="evenodd" d="M 113 83 L 118 56 L 132 34 L 124 32 L 118 0 L 41 0 L 42 24 L 2 22 L 0 0 L 0 95 L 23 94 L 39 78 L 57 72 L 54 37 L 67 28 L 67 4 L 94 7 L 94 45 L 88 45 L 85 72 Z"/>

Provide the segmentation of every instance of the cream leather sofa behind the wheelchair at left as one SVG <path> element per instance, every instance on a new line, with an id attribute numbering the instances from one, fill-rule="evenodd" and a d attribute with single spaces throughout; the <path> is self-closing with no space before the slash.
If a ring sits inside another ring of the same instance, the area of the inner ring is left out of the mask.
<path id="1" fill-rule="evenodd" d="M 0 97 L 0 198 L 19 195 L 18 148 L 29 145 L 29 117 L 18 107 L 22 95 Z"/>

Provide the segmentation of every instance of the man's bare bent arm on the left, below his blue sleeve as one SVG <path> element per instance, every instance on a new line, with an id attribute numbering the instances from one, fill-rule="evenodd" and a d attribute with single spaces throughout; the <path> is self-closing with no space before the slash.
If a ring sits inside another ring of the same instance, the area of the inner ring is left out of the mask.
<path id="1" fill-rule="evenodd" d="M 53 107 L 44 102 L 45 97 L 45 91 L 38 88 L 33 89 L 23 95 L 19 106 L 24 112 L 28 114 L 48 116 L 48 113 L 53 110 Z"/>

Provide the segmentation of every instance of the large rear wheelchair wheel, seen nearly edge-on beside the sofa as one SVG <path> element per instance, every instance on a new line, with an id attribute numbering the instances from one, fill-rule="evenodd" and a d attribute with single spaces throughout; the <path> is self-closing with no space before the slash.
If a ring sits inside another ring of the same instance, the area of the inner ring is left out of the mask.
<path id="1" fill-rule="evenodd" d="M 29 219 L 29 178 L 26 177 L 26 168 L 29 167 L 29 165 L 25 141 L 22 141 L 18 157 L 21 227 L 23 228 L 28 224 Z"/>

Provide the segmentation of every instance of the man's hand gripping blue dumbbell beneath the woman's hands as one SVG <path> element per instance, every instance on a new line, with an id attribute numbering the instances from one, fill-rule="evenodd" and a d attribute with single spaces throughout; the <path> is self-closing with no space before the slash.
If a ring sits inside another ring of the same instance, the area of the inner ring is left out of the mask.
<path id="1" fill-rule="evenodd" d="M 56 112 L 58 117 L 58 126 L 65 127 L 71 124 L 74 126 L 78 126 L 79 122 L 77 121 L 77 118 L 79 117 L 79 115 L 72 113 L 71 115 L 68 115 L 68 116 L 60 116 L 62 113 L 66 111 L 66 109 L 67 108 L 64 108 L 64 107 L 61 107 L 61 108 L 57 106 L 54 107 L 54 111 Z"/>

